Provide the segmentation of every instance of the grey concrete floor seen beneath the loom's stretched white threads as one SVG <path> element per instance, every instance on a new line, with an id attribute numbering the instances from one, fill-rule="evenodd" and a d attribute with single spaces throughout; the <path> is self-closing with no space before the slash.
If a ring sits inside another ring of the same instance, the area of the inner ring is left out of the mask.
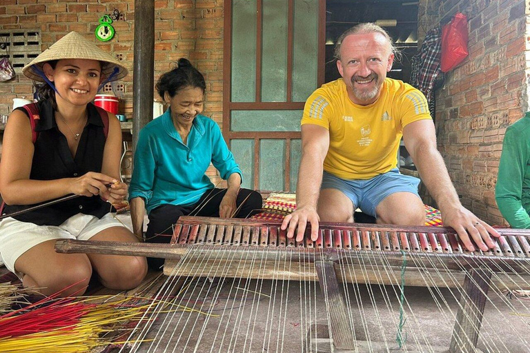
<path id="1" fill-rule="evenodd" d="M 395 291 L 399 289 L 348 285 L 347 290 L 355 339 L 380 341 L 385 347 L 377 350 L 373 344 L 360 352 L 396 350 L 400 306 Z M 406 322 L 402 333 L 408 350 L 402 351 L 446 352 L 458 294 L 453 296 L 450 290 L 440 289 L 433 297 L 433 290 L 417 287 L 406 287 L 405 294 Z M 135 352 L 308 352 L 309 325 L 327 325 L 326 307 L 315 283 L 197 279 L 174 303 L 212 316 L 181 311 L 161 314 L 146 337 L 153 341 L 142 344 Z M 491 293 L 478 348 L 482 352 L 530 352 L 529 304 L 528 299 L 507 300 L 502 294 Z M 331 350 L 326 343 L 317 351 Z"/>

